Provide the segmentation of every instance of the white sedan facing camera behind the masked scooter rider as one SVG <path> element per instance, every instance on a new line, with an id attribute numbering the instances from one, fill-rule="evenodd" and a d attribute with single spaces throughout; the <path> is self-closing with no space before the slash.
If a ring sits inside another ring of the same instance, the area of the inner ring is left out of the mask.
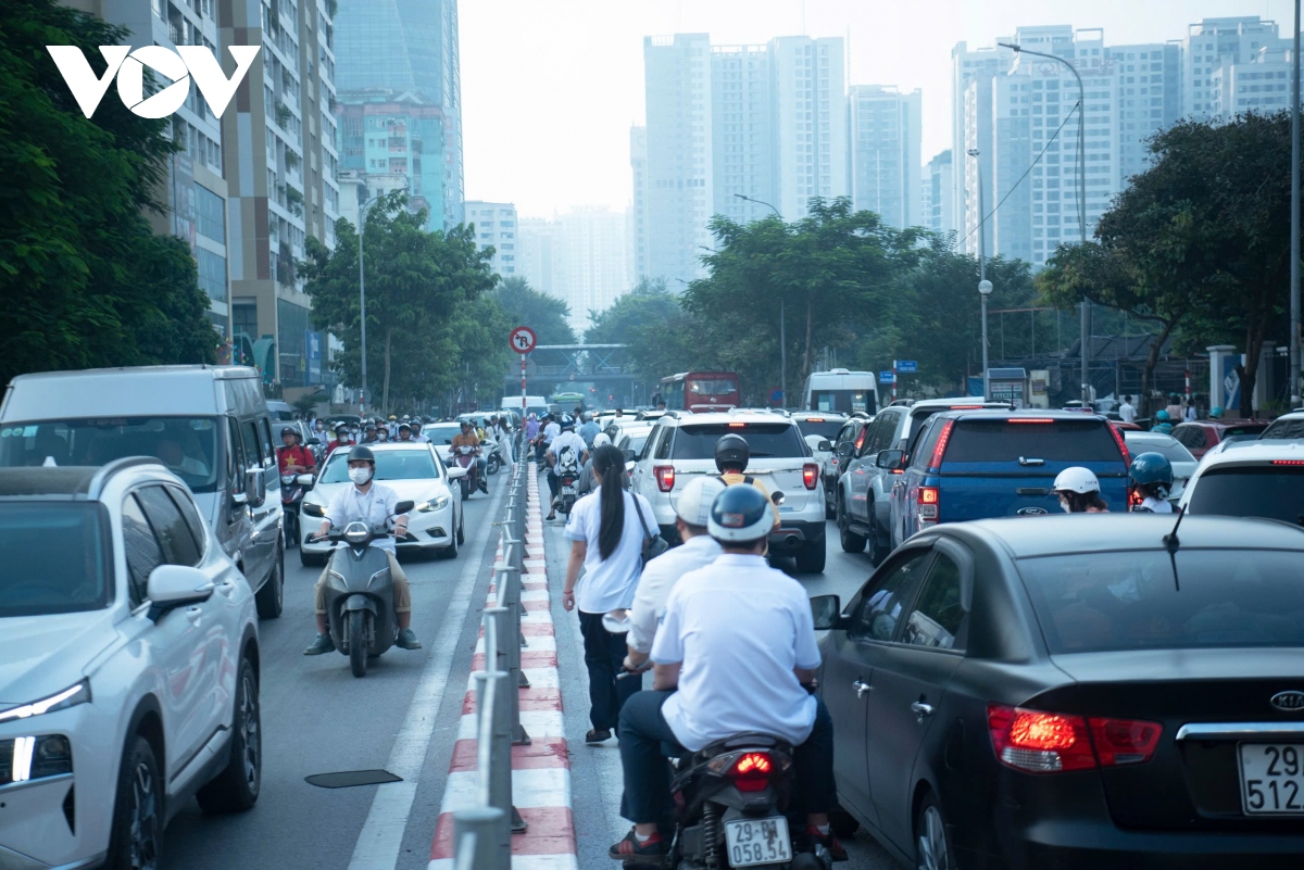
<path id="1" fill-rule="evenodd" d="M 399 501 L 416 503 L 408 513 L 407 537 L 398 542 L 399 551 L 439 551 L 450 559 L 466 540 L 462 499 L 452 498 L 452 484 L 466 471 L 447 469 L 433 444 L 368 444 L 376 453 L 376 479 L 398 492 Z M 348 452 L 335 451 L 317 483 L 304 496 L 304 504 L 330 505 L 335 494 L 347 486 Z M 330 543 L 309 542 L 317 534 L 317 522 L 300 524 L 299 557 L 305 565 L 322 565 Z"/>

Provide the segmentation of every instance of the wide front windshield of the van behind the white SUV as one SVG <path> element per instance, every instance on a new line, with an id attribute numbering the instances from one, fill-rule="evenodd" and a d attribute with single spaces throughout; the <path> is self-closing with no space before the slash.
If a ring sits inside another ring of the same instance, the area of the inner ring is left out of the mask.
<path id="1" fill-rule="evenodd" d="M 218 426 L 211 417 L 107 417 L 0 426 L 0 466 L 106 465 L 156 457 L 193 492 L 218 488 Z"/>

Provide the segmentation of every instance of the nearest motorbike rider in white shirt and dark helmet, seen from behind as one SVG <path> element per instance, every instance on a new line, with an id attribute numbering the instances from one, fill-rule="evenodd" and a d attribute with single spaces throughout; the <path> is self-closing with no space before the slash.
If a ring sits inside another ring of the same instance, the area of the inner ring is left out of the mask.
<path id="1" fill-rule="evenodd" d="M 725 487 L 707 520 L 724 554 L 670 590 L 652 642 L 652 690 L 621 710 L 621 815 L 634 828 L 612 845 L 612 858 L 660 862 L 666 853 L 673 805 L 662 744 L 698 751 L 743 732 L 793 745 L 789 814 L 805 813 L 807 837 L 835 860 L 846 857 L 828 827 L 833 720 L 803 685 L 820 667 L 810 602 L 795 580 L 765 564 L 771 507 L 758 487 Z"/>

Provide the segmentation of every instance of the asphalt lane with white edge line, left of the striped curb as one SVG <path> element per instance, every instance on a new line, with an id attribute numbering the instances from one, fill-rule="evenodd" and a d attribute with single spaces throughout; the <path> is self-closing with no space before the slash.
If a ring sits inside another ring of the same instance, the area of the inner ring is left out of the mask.
<path id="1" fill-rule="evenodd" d="M 167 830 L 164 867 L 426 867 L 488 594 L 489 546 L 497 542 L 489 534 L 489 517 L 493 512 L 497 518 L 505 481 L 502 474 L 490 478 L 492 495 L 466 503 L 467 543 L 458 559 L 404 556 L 412 626 L 422 649 L 389 650 L 372 660 L 361 680 L 351 675 L 343 655 L 304 658 L 316 630 L 312 586 L 321 569 L 303 568 L 296 550 L 287 554 L 284 613 L 259 625 L 258 804 L 249 813 L 207 817 L 194 801 L 186 802 Z M 415 695 L 437 701 L 426 706 L 438 714 L 409 715 Z M 407 768 L 394 771 L 406 783 L 326 789 L 304 781 L 313 774 L 395 767 Z"/>

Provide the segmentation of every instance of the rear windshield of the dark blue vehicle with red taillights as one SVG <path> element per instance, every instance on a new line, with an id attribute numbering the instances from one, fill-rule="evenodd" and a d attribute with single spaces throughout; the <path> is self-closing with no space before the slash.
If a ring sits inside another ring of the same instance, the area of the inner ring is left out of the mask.
<path id="1" fill-rule="evenodd" d="M 1056 419 L 1012 423 L 1004 419 L 961 419 L 951 432 L 945 462 L 1015 462 L 1020 457 L 1047 462 L 1121 462 L 1119 445 L 1099 419 Z"/>

